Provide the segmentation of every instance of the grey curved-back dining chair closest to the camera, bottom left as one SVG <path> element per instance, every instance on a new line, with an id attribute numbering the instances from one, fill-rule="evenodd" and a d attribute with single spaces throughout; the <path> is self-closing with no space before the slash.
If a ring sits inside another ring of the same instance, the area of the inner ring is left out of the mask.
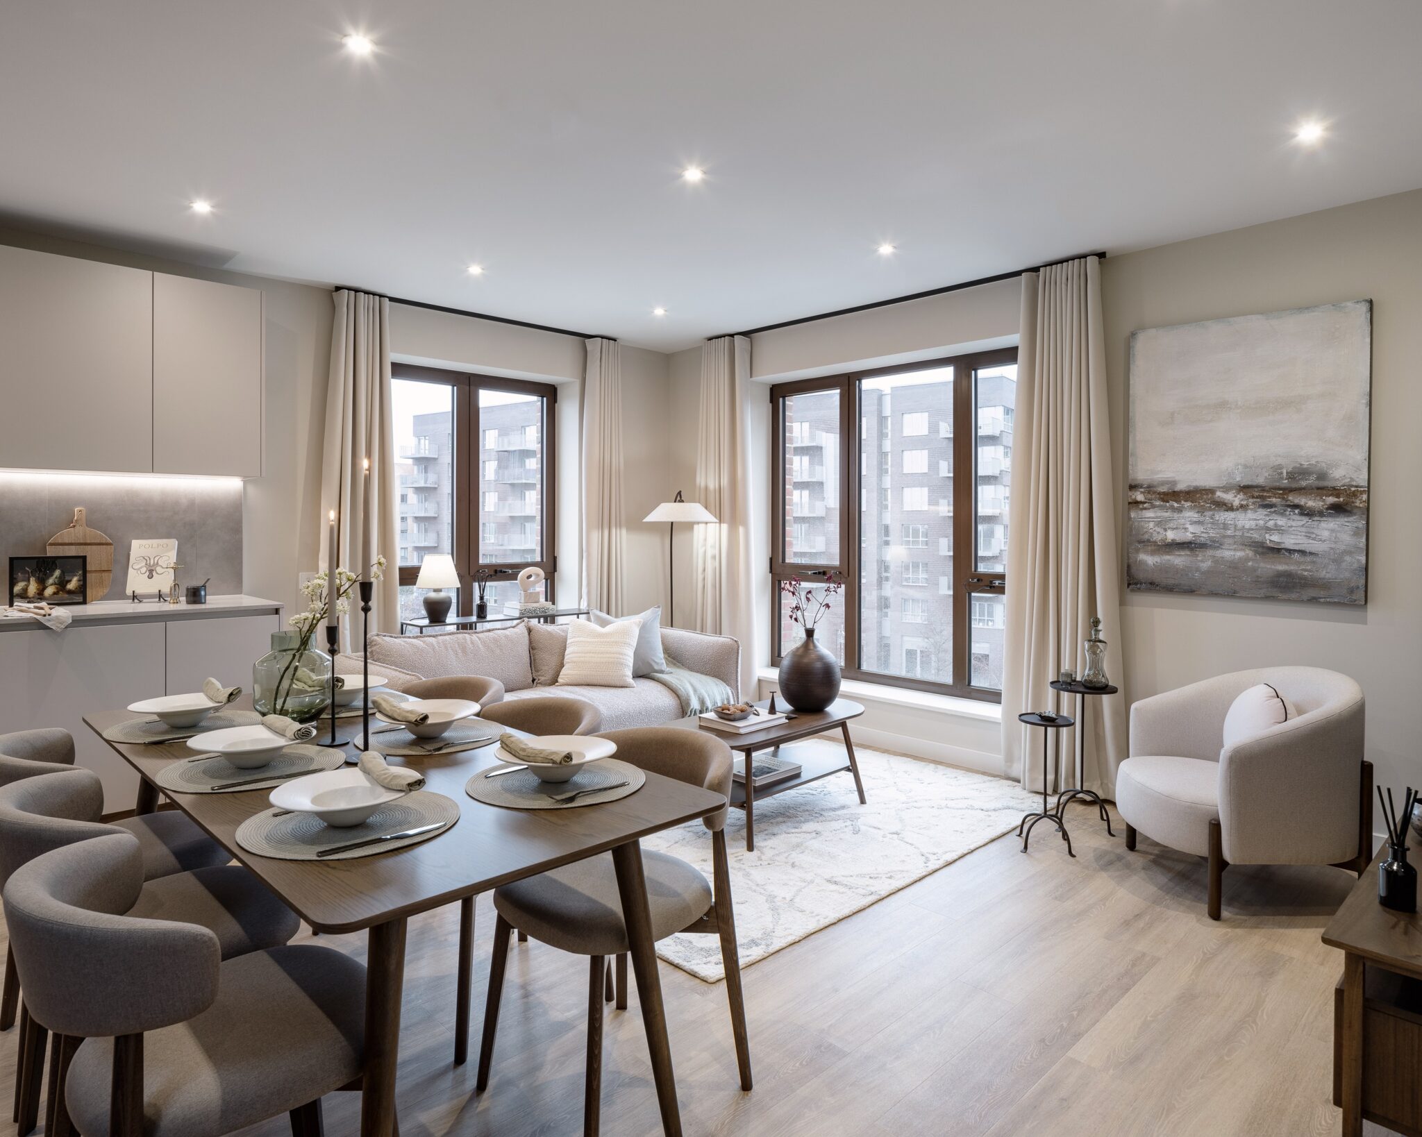
<path id="1" fill-rule="evenodd" d="M 289 1113 L 321 1131 L 321 1097 L 356 1089 L 365 968 L 330 948 L 223 961 L 198 924 L 137 915 L 131 834 L 64 846 L 6 884 L 10 938 L 34 1015 L 64 1045 L 58 1083 L 84 1137 L 213 1137 Z"/>

